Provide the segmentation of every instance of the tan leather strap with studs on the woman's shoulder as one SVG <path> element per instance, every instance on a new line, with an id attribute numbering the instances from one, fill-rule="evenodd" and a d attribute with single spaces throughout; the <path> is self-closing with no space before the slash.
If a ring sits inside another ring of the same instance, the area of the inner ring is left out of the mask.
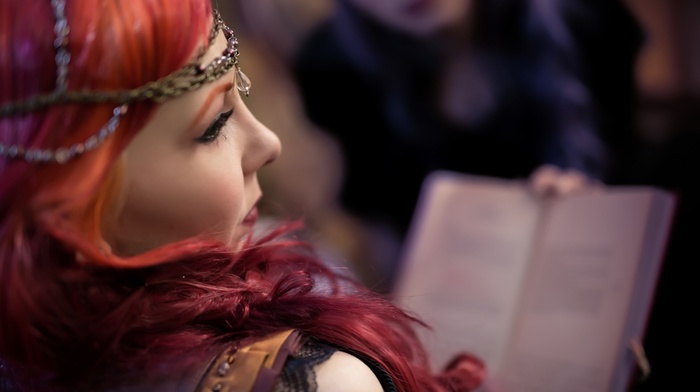
<path id="1" fill-rule="evenodd" d="M 299 332 L 290 329 L 238 350 L 228 348 L 214 359 L 196 392 L 271 392 L 299 345 Z"/>

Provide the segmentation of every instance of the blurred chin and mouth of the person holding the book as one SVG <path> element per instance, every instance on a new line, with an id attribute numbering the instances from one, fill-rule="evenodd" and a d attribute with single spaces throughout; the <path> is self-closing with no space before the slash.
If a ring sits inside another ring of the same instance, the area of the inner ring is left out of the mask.
<path id="1" fill-rule="evenodd" d="M 390 28 L 429 36 L 465 23 L 471 0 L 349 0 Z"/>

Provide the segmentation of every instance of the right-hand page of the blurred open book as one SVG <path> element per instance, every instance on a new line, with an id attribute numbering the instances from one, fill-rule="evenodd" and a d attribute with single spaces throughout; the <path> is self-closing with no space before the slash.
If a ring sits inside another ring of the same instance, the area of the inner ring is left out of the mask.
<path id="1" fill-rule="evenodd" d="M 610 390 L 653 195 L 612 190 L 547 207 L 504 391 Z"/>

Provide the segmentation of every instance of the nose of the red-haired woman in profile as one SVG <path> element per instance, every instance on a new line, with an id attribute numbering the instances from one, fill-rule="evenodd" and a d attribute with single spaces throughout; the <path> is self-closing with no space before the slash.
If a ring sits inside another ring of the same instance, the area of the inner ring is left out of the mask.
<path id="1" fill-rule="evenodd" d="M 279 157 L 282 144 L 277 135 L 250 115 L 250 133 L 243 155 L 243 171 L 254 173 Z"/>

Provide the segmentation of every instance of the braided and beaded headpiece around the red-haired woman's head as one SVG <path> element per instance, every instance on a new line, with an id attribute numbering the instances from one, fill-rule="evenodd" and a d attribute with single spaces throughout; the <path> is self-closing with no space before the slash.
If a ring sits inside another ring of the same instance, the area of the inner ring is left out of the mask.
<path id="1" fill-rule="evenodd" d="M 55 17 L 54 49 L 56 50 L 56 86 L 50 93 L 38 94 L 20 101 L 4 103 L 0 105 L 0 118 L 27 114 L 41 110 L 51 105 L 70 103 L 115 103 L 116 107 L 112 117 L 100 128 L 97 133 L 87 138 L 82 143 L 55 150 L 24 148 L 18 145 L 5 145 L 0 143 L 0 157 L 11 159 L 25 159 L 27 162 L 57 162 L 66 163 L 78 155 L 90 151 L 99 146 L 119 126 L 119 120 L 126 113 L 128 105 L 138 101 L 163 102 L 177 97 L 186 92 L 195 90 L 203 84 L 217 80 L 231 69 L 237 73 L 236 87 L 246 96 L 250 93 L 250 80 L 241 71 L 238 64 L 238 39 L 233 30 L 226 26 L 218 11 L 214 10 L 214 24 L 209 33 L 209 42 L 195 56 L 194 60 L 179 70 L 143 86 L 131 90 L 69 90 L 69 33 L 70 26 L 65 15 L 65 0 L 51 0 L 51 7 Z M 200 65 L 198 62 L 207 49 L 223 31 L 227 40 L 226 49 L 221 56 L 214 59 L 208 65 Z"/>

